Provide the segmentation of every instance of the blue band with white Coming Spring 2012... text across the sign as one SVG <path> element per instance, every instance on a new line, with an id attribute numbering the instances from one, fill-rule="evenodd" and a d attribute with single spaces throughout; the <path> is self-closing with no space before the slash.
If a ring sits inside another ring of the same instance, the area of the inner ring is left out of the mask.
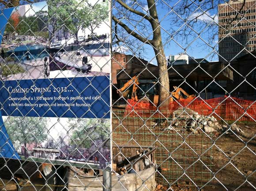
<path id="1" fill-rule="evenodd" d="M 4 81 L 3 116 L 110 118 L 109 77 Z"/>

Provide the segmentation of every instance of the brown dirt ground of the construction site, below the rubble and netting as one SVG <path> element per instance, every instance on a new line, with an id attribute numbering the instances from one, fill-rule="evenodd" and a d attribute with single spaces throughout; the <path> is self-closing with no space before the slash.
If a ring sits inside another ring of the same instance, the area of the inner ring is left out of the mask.
<path id="1" fill-rule="evenodd" d="M 237 122 L 243 132 L 226 134 L 193 133 L 184 127 L 152 129 L 154 123 L 114 117 L 113 140 L 119 145 L 157 148 L 156 191 L 256 190 L 256 123 Z"/>

